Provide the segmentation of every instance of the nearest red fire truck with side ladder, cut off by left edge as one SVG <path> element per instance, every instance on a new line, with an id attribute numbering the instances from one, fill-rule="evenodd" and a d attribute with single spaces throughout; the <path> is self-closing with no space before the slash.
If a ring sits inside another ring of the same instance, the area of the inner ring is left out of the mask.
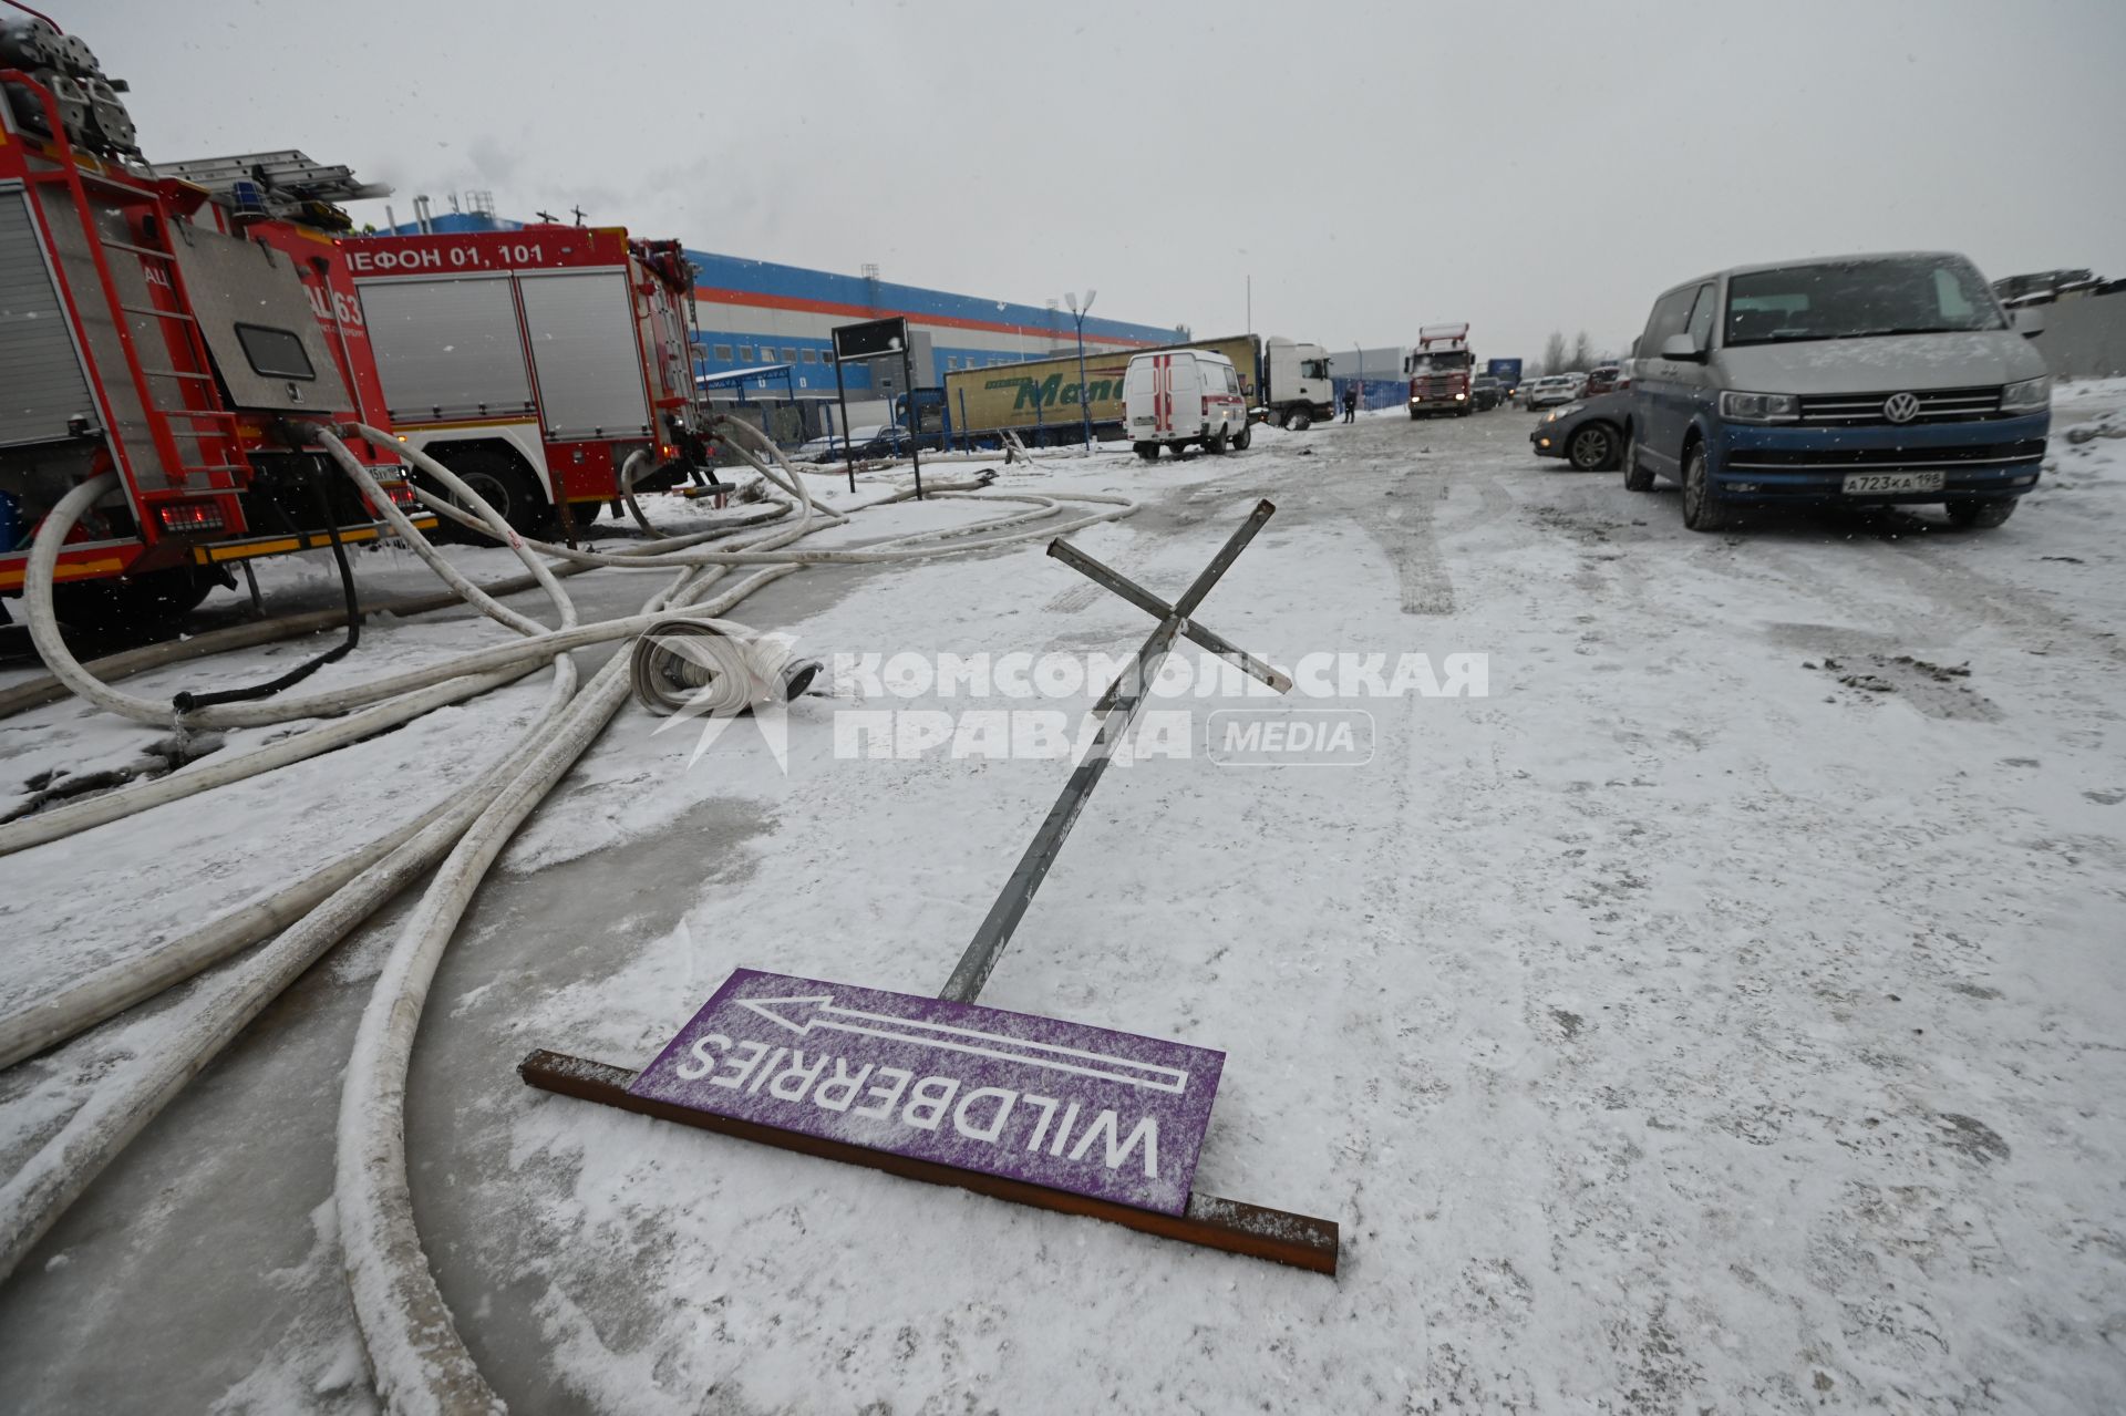
<path id="1" fill-rule="evenodd" d="M 383 421 L 323 225 L 378 196 L 300 159 L 225 200 L 140 159 L 96 55 L 43 19 L 0 23 L 0 593 L 68 489 L 117 487 L 60 555 L 62 621 L 198 604 L 227 563 L 383 534 L 306 421 Z M 410 502 L 391 449 L 355 446 Z"/>

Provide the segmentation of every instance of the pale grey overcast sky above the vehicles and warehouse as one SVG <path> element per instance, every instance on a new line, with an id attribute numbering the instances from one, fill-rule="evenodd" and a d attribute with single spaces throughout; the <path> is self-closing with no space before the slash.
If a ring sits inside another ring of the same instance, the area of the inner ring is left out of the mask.
<path id="1" fill-rule="evenodd" d="M 2126 276 L 2126 0 L 47 0 L 151 159 L 300 147 L 704 251 L 1331 347 L 1624 344 L 1671 283 Z M 383 221 L 383 213 L 361 213 Z"/>

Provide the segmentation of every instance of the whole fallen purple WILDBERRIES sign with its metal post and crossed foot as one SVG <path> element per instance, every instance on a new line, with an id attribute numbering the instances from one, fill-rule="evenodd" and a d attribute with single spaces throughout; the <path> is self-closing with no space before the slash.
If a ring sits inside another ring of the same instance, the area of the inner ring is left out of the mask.
<path id="1" fill-rule="evenodd" d="M 1193 623 L 1276 512 L 1256 504 L 1174 602 L 1057 540 L 1048 553 L 1159 619 L 1101 729 L 940 997 L 733 970 L 642 1072 L 532 1052 L 532 1086 L 802 1154 L 1082 1214 L 1318 1274 L 1337 1225 L 1193 1189 L 1225 1052 L 976 1004 L 1178 638 L 1280 693 L 1290 678 Z"/>

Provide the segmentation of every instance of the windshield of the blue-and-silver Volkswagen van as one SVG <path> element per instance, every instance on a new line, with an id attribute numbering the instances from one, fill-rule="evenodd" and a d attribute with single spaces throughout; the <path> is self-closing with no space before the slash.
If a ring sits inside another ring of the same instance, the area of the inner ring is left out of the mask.
<path id="1" fill-rule="evenodd" d="M 1786 344 L 2005 327 L 1986 281 L 1964 262 L 1894 257 L 1733 276 L 1724 342 Z"/>

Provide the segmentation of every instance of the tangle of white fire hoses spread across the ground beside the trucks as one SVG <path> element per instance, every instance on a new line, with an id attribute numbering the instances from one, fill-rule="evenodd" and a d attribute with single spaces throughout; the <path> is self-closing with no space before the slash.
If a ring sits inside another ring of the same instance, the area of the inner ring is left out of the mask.
<path id="1" fill-rule="evenodd" d="M 729 693 L 744 689 L 748 695 L 757 695 L 763 685 L 784 678 L 791 665 L 782 663 L 787 651 L 778 640 L 753 638 L 742 625 L 716 619 L 761 585 L 812 563 L 921 559 L 959 549 L 1008 544 L 1031 536 L 1057 536 L 1095 521 L 1127 517 L 1135 510 L 1135 504 L 1127 498 L 1069 493 L 1072 502 L 1091 502 L 1099 510 L 1065 519 L 1061 525 L 1031 525 L 1065 512 L 1065 500 L 991 493 L 982 500 L 1020 502 L 1031 510 L 969 527 L 893 538 L 853 551 L 782 551 L 782 546 L 821 529 L 821 525 L 842 523 L 844 517 L 825 512 L 812 502 L 802 474 L 774 444 L 742 423 L 733 423 L 733 429 L 740 429 L 774 463 L 780 463 L 770 466 L 770 461 L 755 457 L 750 451 L 738 449 L 774 489 L 789 495 L 784 515 L 795 512 L 791 525 L 776 527 L 736 551 L 704 549 L 706 542 L 729 536 L 733 527 L 670 536 L 629 546 L 627 553 L 587 553 L 525 540 L 510 532 L 502 517 L 478 493 L 453 476 L 449 468 L 415 449 L 404 449 L 423 472 L 442 483 L 457 502 L 463 502 L 463 508 L 459 508 L 442 498 L 425 498 L 432 506 L 476 525 L 517 551 L 519 559 L 525 561 L 536 583 L 546 589 L 549 600 L 555 604 L 559 629 L 546 629 L 538 621 L 508 610 L 480 591 L 480 587 L 466 580 L 427 544 L 404 512 L 398 512 L 389 498 L 374 485 L 374 478 L 368 476 L 368 470 L 347 453 L 338 436 L 332 432 L 319 434 L 319 440 L 342 470 L 370 495 L 372 506 L 393 523 L 393 529 L 398 529 L 417 555 L 468 604 L 480 608 L 489 619 L 517 629 L 521 638 L 512 644 L 459 655 L 449 663 L 427 670 L 393 674 L 332 693 L 266 704 L 221 704 L 185 714 L 181 727 L 247 727 L 349 714 L 366 708 L 366 712 L 355 712 L 336 723 L 298 734 L 296 738 L 308 740 L 304 744 L 306 751 L 272 755 L 272 748 L 259 748 L 230 759 L 225 765 L 215 763 L 221 768 L 219 772 L 187 770 L 185 774 L 164 778 L 166 782 L 185 782 L 183 789 L 147 782 L 142 787 L 159 787 L 162 791 L 147 795 L 142 789 L 128 789 L 111 795 L 121 797 L 128 812 L 142 810 L 189 795 L 191 791 L 204 791 L 225 780 L 240 780 L 272 765 L 285 765 L 317 751 L 353 742 L 391 723 L 408 721 L 442 702 L 457 702 L 512 682 L 540 663 L 551 661 L 555 665 L 555 682 L 546 706 L 521 738 L 470 787 L 451 793 L 444 804 L 438 804 L 412 823 L 334 861 L 308 880 L 285 887 L 266 901 L 253 901 L 174 940 L 166 948 L 151 950 L 142 959 L 70 984 L 57 995 L 62 1004 L 57 1008 L 47 1006 L 53 999 L 40 999 L 23 1014 L 0 1018 L 0 1065 L 6 1065 L 28 1055 L 23 1048 L 36 1050 L 70 1038 L 81 1027 L 108 1018 L 113 1012 L 151 997 L 155 991 L 189 978 L 208 963 L 225 959 L 244 944 L 279 929 L 279 935 L 253 955 L 232 963 L 221 974 L 204 978 L 198 984 L 196 999 L 189 999 L 196 1004 L 189 1023 L 174 1029 L 174 1035 L 157 1040 L 157 1046 L 147 1057 L 134 1059 L 130 1067 L 115 1069 L 113 1076 L 89 1093 L 87 1101 L 68 1118 L 60 1133 L 0 1186 L 0 1278 L 13 1271 L 64 1208 L 176 1095 L 185 1080 L 196 1076 L 227 1046 L 272 997 L 310 967 L 332 944 L 359 927 L 378 906 L 442 859 L 434 884 L 400 929 L 398 944 L 364 1012 L 347 1069 L 338 1157 L 340 1240 L 364 1344 L 378 1393 L 387 1405 L 400 1412 L 500 1410 L 500 1399 L 480 1378 L 451 1325 L 451 1314 L 434 1284 L 419 1233 L 412 1225 L 410 1195 L 406 1191 L 402 1103 L 406 1063 L 436 965 L 457 921 L 466 906 L 470 906 L 485 870 L 493 863 L 510 833 L 538 808 L 570 763 L 595 740 L 600 729 L 627 699 L 634 682 L 651 680 L 648 687 L 653 691 L 644 693 L 644 697 L 653 708 L 668 708 L 672 704 L 670 689 L 685 689 L 689 697 L 708 689 L 712 702 L 706 706 L 710 712 L 716 712 L 719 708 L 729 708 L 723 702 Z M 355 425 L 349 432 L 383 440 L 387 446 L 393 442 L 389 434 L 374 427 Z M 62 498 L 60 506 L 53 508 L 40 527 L 26 576 L 30 631 L 45 655 L 47 668 L 68 689 L 111 712 L 162 727 L 172 721 L 170 706 L 119 693 L 96 680 L 66 651 L 53 621 L 51 578 L 57 546 L 74 521 L 108 485 L 108 474 L 83 483 Z M 940 495 L 963 495 L 974 491 L 974 485 L 938 487 L 935 491 Z M 904 500 L 906 495 L 912 495 L 912 489 L 897 489 L 887 500 Z M 648 525 L 646 517 L 640 517 L 640 521 Z M 955 540 L 967 544 L 940 544 Z M 559 559 L 568 563 L 568 570 L 576 566 L 606 566 L 617 570 L 674 570 L 678 574 L 661 593 L 644 604 L 642 612 L 595 625 L 578 625 L 574 604 L 555 578 L 557 570 L 542 557 Z M 757 566 L 759 570 L 714 595 L 714 600 L 704 600 L 729 574 L 729 568 L 736 566 Z M 638 648 L 629 657 L 614 655 L 580 693 L 576 691 L 576 670 L 566 651 L 604 640 L 642 636 L 644 631 L 657 631 L 661 648 Z M 706 648 L 719 640 L 721 648 Z M 695 663 L 689 670 L 657 659 L 659 653 L 693 659 L 685 648 L 676 648 L 682 642 L 704 646 L 708 663 Z M 663 680 L 663 689 L 657 689 L 657 680 Z M 376 704 L 376 708 L 368 708 L 370 704 Z M 94 808 L 96 804 L 83 802 L 79 806 Z M 47 827 L 38 833 L 26 833 L 9 848 L 57 840 L 64 833 L 89 829 L 113 819 L 106 814 L 108 808 L 66 814 L 74 810 L 62 808 L 60 812 L 49 812 L 62 821 L 62 831 L 51 833 Z"/>

